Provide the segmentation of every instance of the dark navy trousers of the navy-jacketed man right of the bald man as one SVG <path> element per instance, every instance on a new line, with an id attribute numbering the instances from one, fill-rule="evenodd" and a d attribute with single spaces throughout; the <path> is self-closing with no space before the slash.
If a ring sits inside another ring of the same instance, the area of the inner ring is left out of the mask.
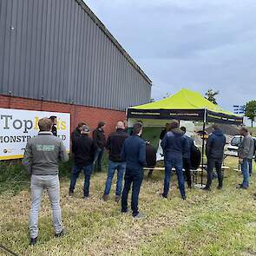
<path id="1" fill-rule="evenodd" d="M 138 203 L 139 203 L 139 194 L 140 194 L 142 181 L 143 181 L 142 169 L 139 169 L 139 170 L 129 170 L 128 168 L 126 169 L 126 173 L 124 175 L 124 187 L 121 194 L 121 212 L 127 212 L 128 210 L 128 193 L 133 184 L 131 208 L 132 208 L 134 217 L 139 213 Z"/>

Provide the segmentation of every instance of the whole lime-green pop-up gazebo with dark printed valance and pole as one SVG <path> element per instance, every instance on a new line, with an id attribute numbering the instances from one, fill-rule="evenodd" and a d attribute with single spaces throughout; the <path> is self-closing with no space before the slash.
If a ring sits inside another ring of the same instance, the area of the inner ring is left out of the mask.
<path id="1" fill-rule="evenodd" d="M 226 95 L 228 99 L 228 95 Z M 243 117 L 225 111 L 220 106 L 209 102 L 200 93 L 189 89 L 181 89 L 177 94 L 158 102 L 135 106 L 127 109 L 128 124 L 136 121 L 145 122 L 148 126 L 159 123 L 163 126 L 169 120 L 202 121 L 205 132 L 207 122 L 242 125 Z M 146 125 L 146 126 L 147 126 Z M 205 136 L 203 136 L 202 156 L 205 152 Z M 203 157 L 201 167 L 204 166 Z M 202 183 L 202 176 L 201 176 Z"/>

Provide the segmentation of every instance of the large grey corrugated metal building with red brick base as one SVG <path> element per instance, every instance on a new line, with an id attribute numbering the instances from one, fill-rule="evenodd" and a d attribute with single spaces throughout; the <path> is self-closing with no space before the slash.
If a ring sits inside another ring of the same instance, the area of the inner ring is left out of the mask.
<path id="1" fill-rule="evenodd" d="M 113 128 L 150 100 L 148 76 L 82 0 L 0 0 L 0 38 L 0 108 Z"/>

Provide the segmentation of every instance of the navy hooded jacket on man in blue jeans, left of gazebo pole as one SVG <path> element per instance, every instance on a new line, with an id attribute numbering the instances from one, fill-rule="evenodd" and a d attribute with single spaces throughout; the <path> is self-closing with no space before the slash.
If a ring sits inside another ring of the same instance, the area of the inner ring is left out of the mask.
<path id="1" fill-rule="evenodd" d="M 161 141 L 161 148 L 167 161 L 176 158 L 182 160 L 189 150 L 188 141 L 180 128 L 174 128 L 167 132 Z"/>

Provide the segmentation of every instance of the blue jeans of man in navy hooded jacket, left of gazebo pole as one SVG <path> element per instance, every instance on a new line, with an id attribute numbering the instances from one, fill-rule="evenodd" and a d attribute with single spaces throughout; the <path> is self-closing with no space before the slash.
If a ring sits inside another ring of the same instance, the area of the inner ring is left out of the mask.
<path id="1" fill-rule="evenodd" d="M 163 189 L 163 196 L 167 197 L 170 187 L 170 180 L 171 180 L 171 172 L 172 167 L 175 168 L 176 174 L 178 176 L 179 188 L 181 192 L 181 197 L 184 197 L 185 194 L 185 187 L 184 187 L 184 176 L 182 172 L 182 158 L 173 158 L 165 160 L 165 179 L 164 179 L 164 189 Z"/>

